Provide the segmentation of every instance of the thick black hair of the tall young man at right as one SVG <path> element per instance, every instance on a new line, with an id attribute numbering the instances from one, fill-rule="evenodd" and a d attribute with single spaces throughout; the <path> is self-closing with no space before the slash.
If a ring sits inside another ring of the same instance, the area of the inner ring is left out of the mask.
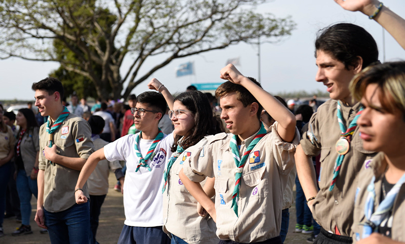
<path id="1" fill-rule="evenodd" d="M 316 51 L 332 55 L 345 65 L 354 66 L 357 56 L 363 59 L 362 69 L 378 62 L 378 47 L 373 36 L 364 28 L 349 24 L 335 24 L 319 30 L 315 41 Z"/>

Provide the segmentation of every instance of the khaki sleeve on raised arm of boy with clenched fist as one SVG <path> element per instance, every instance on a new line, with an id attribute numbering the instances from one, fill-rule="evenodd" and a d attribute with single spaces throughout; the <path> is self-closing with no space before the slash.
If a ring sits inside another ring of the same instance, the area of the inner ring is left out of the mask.
<path id="1" fill-rule="evenodd" d="M 278 165 L 278 169 L 281 174 L 289 174 L 294 168 L 295 159 L 294 154 L 295 150 L 300 143 L 300 132 L 295 128 L 295 136 L 292 142 L 285 142 L 277 133 L 278 122 L 269 128 L 271 134 L 268 137 L 266 144 L 271 147 L 273 152 L 273 157 L 275 162 Z"/>

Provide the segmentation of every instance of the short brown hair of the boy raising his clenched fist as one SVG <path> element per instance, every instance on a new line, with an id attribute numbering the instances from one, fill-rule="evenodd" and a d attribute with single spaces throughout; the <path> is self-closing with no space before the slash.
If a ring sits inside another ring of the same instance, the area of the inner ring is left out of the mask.
<path id="1" fill-rule="evenodd" d="M 248 77 L 253 83 L 256 85 L 262 87 L 262 85 L 252 77 Z M 248 91 L 245 87 L 232 83 L 230 81 L 226 81 L 222 83 L 220 86 L 218 86 L 217 90 L 215 91 L 215 96 L 221 98 L 222 96 L 225 96 L 228 93 L 236 93 L 236 99 L 242 102 L 242 104 L 245 106 L 245 108 L 248 105 L 251 105 L 253 103 L 257 103 L 259 105 L 259 109 L 257 110 L 257 118 L 260 120 L 260 116 L 263 111 L 263 106 L 257 101 L 256 97 Z"/>

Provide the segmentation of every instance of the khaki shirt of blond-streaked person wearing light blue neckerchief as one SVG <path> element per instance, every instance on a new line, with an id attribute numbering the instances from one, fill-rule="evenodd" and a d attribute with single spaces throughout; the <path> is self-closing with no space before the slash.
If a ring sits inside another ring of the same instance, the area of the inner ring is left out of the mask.
<path id="1" fill-rule="evenodd" d="M 376 181 L 374 183 L 377 200 L 374 203 L 374 210 L 376 210 L 380 205 L 381 187 L 386 168 L 387 162 L 384 153 L 379 153 L 368 165 L 367 169 L 363 170 L 358 177 L 356 200 L 354 204 L 354 222 L 352 226 L 353 243 L 356 243 L 363 233 L 363 226 L 359 225 L 359 223 L 366 221 L 364 206 L 366 205 L 367 197 L 369 195 L 367 187 L 373 176 L 376 176 Z M 394 205 L 392 206 L 392 216 L 391 238 L 396 241 L 405 242 L 405 224 L 403 221 L 403 218 L 405 217 L 405 184 L 402 184 L 395 198 Z"/>

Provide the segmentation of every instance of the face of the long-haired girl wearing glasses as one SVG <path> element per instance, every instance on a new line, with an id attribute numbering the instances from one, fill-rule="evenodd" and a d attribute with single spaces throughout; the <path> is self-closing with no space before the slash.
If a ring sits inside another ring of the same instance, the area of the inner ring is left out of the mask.
<path id="1" fill-rule="evenodd" d="M 189 111 L 189 109 L 182 103 L 180 103 L 179 101 L 175 101 L 173 104 L 173 111 L 176 111 L 178 109 Z M 187 135 L 195 126 L 194 114 L 192 112 L 180 111 L 180 114 L 177 115 L 177 118 L 172 115 L 172 118 L 170 119 L 172 120 L 174 125 L 173 132 L 181 136 Z"/>

